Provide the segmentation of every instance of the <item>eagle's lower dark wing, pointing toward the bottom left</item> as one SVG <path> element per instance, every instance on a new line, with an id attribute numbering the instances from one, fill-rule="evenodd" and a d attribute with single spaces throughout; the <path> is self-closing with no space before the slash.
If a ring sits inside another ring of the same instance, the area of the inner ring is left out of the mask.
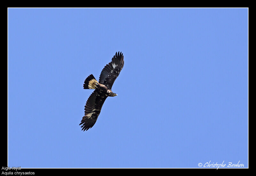
<path id="1" fill-rule="evenodd" d="M 102 105 L 104 101 L 106 100 L 108 96 L 100 92 L 98 90 L 95 90 L 92 92 L 88 100 L 86 101 L 86 105 L 84 106 L 84 114 L 83 119 L 81 120 L 81 126 L 82 130 L 88 130 L 89 128 L 92 128 L 92 126 L 95 124 L 99 114 L 100 110 L 102 108 Z"/>

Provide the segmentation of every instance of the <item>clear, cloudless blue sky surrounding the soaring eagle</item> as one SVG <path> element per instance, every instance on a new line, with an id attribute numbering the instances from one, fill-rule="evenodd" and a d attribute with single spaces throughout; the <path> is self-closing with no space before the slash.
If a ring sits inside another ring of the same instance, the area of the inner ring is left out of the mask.
<path id="1" fill-rule="evenodd" d="M 248 166 L 248 9 L 9 9 L 10 167 Z M 96 124 L 79 123 L 113 55 Z"/>

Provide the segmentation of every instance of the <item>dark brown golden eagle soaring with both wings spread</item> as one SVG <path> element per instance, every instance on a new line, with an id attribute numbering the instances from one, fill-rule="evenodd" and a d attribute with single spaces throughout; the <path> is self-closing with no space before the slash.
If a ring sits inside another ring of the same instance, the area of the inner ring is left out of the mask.
<path id="1" fill-rule="evenodd" d="M 116 55 L 112 58 L 101 71 L 99 82 L 91 74 L 84 81 L 84 89 L 95 89 L 84 106 L 84 116 L 79 125 L 82 125 L 82 130 L 88 130 L 95 124 L 101 107 L 107 97 L 114 97 L 117 94 L 111 91 L 117 76 L 124 67 L 123 53 L 116 52 Z"/>

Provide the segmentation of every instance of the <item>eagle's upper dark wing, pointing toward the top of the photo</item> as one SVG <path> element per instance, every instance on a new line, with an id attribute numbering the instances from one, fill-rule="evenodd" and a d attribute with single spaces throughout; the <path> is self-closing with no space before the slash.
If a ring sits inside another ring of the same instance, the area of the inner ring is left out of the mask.
<path id="1" fill-rule="evenodd" d="M 108 89 L 111 90 L 112 85 L 114 84 L 117 76 L 124 67 L 124 56 L 123 53 L 116 52 L 116 55 L 112 58 L 112 61 L 109 62 L 100 73 L 100 84 L 104 84 Z"/>

